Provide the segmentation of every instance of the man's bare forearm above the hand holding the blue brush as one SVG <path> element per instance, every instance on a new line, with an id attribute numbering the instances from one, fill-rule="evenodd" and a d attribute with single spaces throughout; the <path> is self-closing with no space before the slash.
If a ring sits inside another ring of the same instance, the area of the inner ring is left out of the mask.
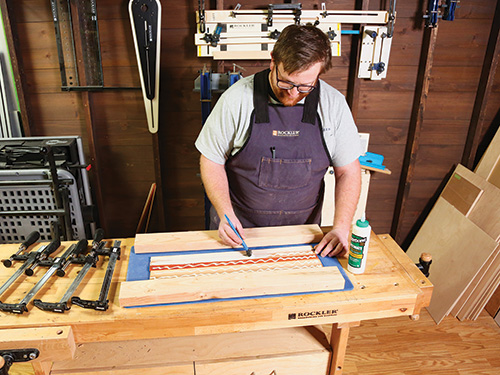
<path id="1" fill-rule="evenodd" d="M 224 214 L 234 214 L 224 165 L 214 163 L 202 155 L 200 172 L 205 192 L 219 218 L 224 217 Z"/>

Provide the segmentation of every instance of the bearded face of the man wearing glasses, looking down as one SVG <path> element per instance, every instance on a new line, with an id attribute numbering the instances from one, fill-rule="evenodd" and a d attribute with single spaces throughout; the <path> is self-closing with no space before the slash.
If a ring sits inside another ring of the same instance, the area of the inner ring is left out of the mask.
<path id="1" fill-rule="evenodd" d="M 318 80 L 320 71 L 321 62 L 318 62 L 314 65 L 311 65 L 311 67 L 309 67 L 307 70 L 288 73 L 285 72 L 282 63 L 276 64 L 275 61 L 272 60 L 271 73 L 269 74 L 269 83 L 271 84 L 274 95 L 276 95 L 279 101 L 284 106 L 291 107 L 296 105 L 303 98 L 309 95 L 310 92 L 299 92 L 299 90 L 307 89 L 307 86 L 314 86 L 316 84 L 316 81 Z M 301 87 L 297 88 L 289 84 Z M 287 90 L 280 88 L 278 85 L 281 87 L 291 86 L 292 88 Z"/>

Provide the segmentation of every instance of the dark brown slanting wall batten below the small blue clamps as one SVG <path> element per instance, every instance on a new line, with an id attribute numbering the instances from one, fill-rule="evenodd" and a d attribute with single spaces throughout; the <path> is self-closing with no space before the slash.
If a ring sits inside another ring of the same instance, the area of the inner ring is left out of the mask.
<path id="1" fill-rule="evenodd" d="M 406 201 L 408 199 L 408 195 L 410 194 L 410 186 L 413 180 L 415 161 L 417 159 L 420 142 L 420 133 L 422 124 L 424 122 L 424 113 L 427 104 L 427 96 L 429 93 L 431 70 L 434 60 L 434 49 L 437 41 L 437 34 L 437 26 L 433 28 L 426 27 L 424 30 L 422 50 L 420 53 L 420 65 L 410 118 L 410 126 L 408 129 L 406 150 L 403 159 L 401 177 L 399 180 L 396 207 L 394 209 L 394 216 L 391 226 L 391 236 L 398 243 L 402 242 L 402 238 L 400 238 L 401 227 L 405 216 Z"/>

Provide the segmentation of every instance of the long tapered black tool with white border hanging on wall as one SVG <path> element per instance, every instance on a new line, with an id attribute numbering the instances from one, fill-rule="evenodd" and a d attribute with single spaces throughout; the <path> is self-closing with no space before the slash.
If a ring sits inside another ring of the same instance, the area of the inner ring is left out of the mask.
<path id="1" fill-rule="evenodd" d="M 128 9 L 148 128 L 151 133 L 156 133 L 160 95 L 161 4 L 159 0 L 130 0 Z"/>

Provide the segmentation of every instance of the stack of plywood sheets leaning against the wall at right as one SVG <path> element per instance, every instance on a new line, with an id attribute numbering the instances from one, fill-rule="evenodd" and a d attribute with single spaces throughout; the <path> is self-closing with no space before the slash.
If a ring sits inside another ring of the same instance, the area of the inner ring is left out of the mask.
<path id="1" fill-rule="evenodd" d="M 475 172 L 458 165 L 407 254 L 432 254 L 429 313 L 476 319 L 500 285 L 500 132 Z"/>

